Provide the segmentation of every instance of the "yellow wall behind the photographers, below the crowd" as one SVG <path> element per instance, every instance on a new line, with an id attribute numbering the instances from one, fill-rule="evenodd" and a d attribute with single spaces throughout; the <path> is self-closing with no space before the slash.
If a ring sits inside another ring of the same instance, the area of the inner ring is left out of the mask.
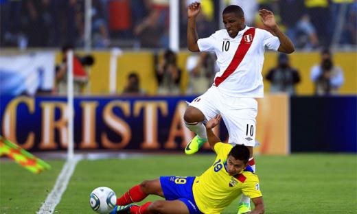
<path id="1" fill-rule="evenodd" d="M 78 52 L 84 54 L 85 52 Z M 108 94 L 109 93 L 109 62 L 111 58 L 110 51 L 93 51 L 95 64 L 90 69 L 90 94 Z M 186 70 L 186 60 L 191 53 L 180 51 L 177 54 L 177 64 L 182 69 L 181 92 L 185 93 L 189 81 Z M 159 53 L 161 57 L 162 53 Z M 117 93 L 121 93 L 126 85 L 128 74 L 135 71 L 141 80 L 140 86 L 150 95 L 157 93 L 157 79 L 155 77 L 156 64 L 154 61 L 155 54 L 150 51 L 124 51 L 123 55 L 117 58 Z M 264 67 L 262 74 L 265 77 L 269 69 L 277 64 L 277 54 L 268 51 L 265 54 Z M 289 55 L 290 64 L 299 70 L 301 82 L 297 84 L 298 95 L 314 94 L 314 84 L 310 80 L 310 69 L 315 64 L 320 63 L 319 52 L 297 52 Z M 343 95 L 357 94 L 357 53 L 356 52 L 336 52 L 334 53 L 334 64 L 343 69 L 345 82 L 339 92 Z M 56 62 L 60 62 L 60 53 L 56 54 Z M 144 81 L 145 80 L 145 81 Z M 264 92 L 268 93 L 270 82 L 264 78 Z"/>

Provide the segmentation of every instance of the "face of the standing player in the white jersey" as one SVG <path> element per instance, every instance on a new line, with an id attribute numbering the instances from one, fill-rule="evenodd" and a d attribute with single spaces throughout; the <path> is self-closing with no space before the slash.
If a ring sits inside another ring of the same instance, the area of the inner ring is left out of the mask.
<path id="1" fill-rule="evenodd" d="M 244 28 L 244 18 L 237 16 L 234 12 L 223 14 L 223 23 L 231 38 L 235 38 L 238 32 Z"/>

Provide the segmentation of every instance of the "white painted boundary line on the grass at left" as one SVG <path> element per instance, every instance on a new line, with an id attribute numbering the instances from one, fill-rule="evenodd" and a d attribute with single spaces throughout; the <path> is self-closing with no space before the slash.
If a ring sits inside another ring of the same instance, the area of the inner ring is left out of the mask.
<path id="1" fill-rule="evenodd" d="M 80 160 L 82 160 L 82 156 L 75 155 L 73 159 L 69 159 L 66 161 L 65 165 L 62 168 L 62 171 L 60 172 L 60 175 L 56 180 L 54 189 L 52 189 L 51 193 L 47 195 L 45 202 L 42 204 L 40 210 L 37 212 L 38 214 L 54 213 L 54 209 L 60 202 L 60 198 L 62 197 L 62 194 L 67 188 L 69 179 L 71 178 L 73 171 Z"/>

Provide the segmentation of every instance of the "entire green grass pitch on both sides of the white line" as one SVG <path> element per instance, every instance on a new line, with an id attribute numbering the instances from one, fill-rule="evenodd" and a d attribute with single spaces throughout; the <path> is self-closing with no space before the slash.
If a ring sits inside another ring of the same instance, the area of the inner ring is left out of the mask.
<path id="1" fill-rule="evenodd" d="M 213 161 L 213 155 L 82 160 L 54 213 L 94 213 L 89 194 L 95 187 L 110 187 L 120 196 L 142 180 L 200 175 Z M 356 155 L 347 154 L 257 157 L 266 213 L 357 213 L 356 162 Z M 38 211 L 63 162 L 49 163 L 53 169 L 38 176 L 14 163 L 1 162 L 0 213 Z M 157 199 L 150 196 L 144 202 Z M 223 213 L 237 213 L 237 204 L 235 200 Z"/>

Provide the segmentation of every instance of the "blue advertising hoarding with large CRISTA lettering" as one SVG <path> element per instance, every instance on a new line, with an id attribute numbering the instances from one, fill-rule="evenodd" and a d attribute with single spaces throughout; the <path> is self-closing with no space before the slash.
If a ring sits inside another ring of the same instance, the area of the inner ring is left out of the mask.
<path id="1" fill-rule="evenodd" d="M 182 150 L 194 97 L 77 97 L 74 142 L 80 150 Z M 67 149 L 65 97 L 1 97 L 1 135 L 30 151 Z M 222 129 L 224 134 L 224 128 Z M 227 131 L 226 131 L 227 133 Z"/>

